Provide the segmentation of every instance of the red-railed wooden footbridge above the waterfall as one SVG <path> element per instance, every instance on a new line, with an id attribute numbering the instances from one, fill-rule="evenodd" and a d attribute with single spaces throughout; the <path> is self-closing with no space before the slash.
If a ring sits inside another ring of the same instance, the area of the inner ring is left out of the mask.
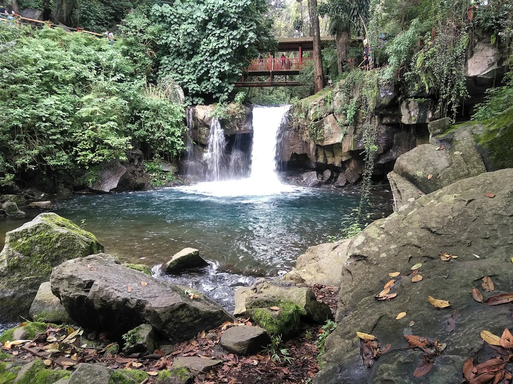
<path id="1" fill-rule="evenodd" d="M 322 38 L 322 48 L 334 44 L 332 37 Z M 266 58 L 257 58 L 249 62 L 244 70 L 242 79 L 235 87 L 294 87 L 302 86 L 299 71 L 313 60 L 303 57 L 303 52 L 313 50 L 312 37 L 290 37 L 278 40 L 277 52 L 294 52 L 297 57 L 274 57 L 268 54 Z M 261 51 L 262 52 L 262 51 Z M 263 53 L 263 52 L 262 52 Z M 290 54 L 289 54 L 290 56 Z"/>

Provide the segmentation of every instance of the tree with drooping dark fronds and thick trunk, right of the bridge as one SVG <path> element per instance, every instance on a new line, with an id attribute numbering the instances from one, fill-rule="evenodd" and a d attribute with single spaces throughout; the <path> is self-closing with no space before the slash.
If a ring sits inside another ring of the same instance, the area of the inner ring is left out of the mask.
<path id="1" fill-rule="evenodd" d="M 339 73 L 342 73 L 342 63 L 349 52 L 351 30 L 367 36 L 366 23 L 369 18 L 369 7 L 369 0 L 329 0 L 319 7 L 321 15 L 331 18 L 330 31 L 337 41 Z"/>

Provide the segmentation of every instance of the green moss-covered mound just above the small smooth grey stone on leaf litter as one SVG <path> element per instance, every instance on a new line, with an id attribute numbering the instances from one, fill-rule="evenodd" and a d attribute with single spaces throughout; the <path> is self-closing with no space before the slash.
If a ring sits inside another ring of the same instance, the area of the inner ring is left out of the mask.
<path id="1" fill-rule="evenodd" d="M 279 307 L 280 311 L 268 309 L 270 307 Z M 300 317 L 306 314 L 303 308 L 288 300 L 256 299 L 248 308 L 253 323 L 264 328 L 270 336 L 282 335 L 284 338 L 298 332 Z"/>

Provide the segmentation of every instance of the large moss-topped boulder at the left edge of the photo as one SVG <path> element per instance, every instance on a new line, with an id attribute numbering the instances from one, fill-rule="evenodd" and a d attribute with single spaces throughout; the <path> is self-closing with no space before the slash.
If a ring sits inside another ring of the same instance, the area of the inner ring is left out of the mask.
<path id="1" fill-rule="evenodd" d="M 103 249 L 92 233 L 50 212 L 7 232 L 0 253 L 0 319 L 27 317 L 53 267 Z"/>

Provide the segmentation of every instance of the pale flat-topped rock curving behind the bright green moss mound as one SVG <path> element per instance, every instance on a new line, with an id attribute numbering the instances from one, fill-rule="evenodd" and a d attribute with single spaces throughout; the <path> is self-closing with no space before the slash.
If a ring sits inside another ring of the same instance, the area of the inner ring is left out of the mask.
<path id="1" fill-rule="evenodd" d="M 310 288 L 296 287 L 291 283 L 279 286 L 271 281 L 260 279 L 251 287 L 239 287 L 235 290 L 234 315 L 244 314 L 249 304 L 259 298 L 272 301 L 277 298 L 298 304 L 306 311 L 306 317 L 315 323 L 324 324 L 327 319 L 333 318 L 331 309 L 317 300 Z"/>

